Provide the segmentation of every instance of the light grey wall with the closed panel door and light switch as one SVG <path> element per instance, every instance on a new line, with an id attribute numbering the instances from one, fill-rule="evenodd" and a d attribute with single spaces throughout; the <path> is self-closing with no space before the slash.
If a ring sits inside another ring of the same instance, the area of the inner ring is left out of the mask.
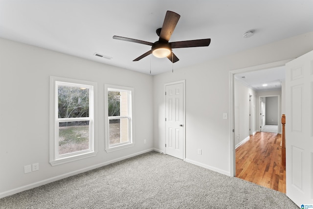
<path id="1" fill-rule="evenodd" d="M 214 40 L 212 40 L 214 43 Z M 313 32 L 154 76 L 154 146 L 164 150 L 164 83 L 186 80 L 186 161 L 232 175 L 229 71 L 295 58 L 313 50 Z M 179 56 L 179 50 L 174 51 Z M 257 108 L 257 107 L 256 107 Z M 202 149 L 198 155 L 197 149 Z"/>

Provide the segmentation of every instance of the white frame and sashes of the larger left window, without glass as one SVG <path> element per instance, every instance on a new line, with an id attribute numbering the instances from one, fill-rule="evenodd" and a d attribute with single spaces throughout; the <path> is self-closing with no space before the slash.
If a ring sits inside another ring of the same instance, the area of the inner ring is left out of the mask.
<path id="1" fill-rule="evenodd" d="M 75 118 L 58 117 L 58 86 L 70 86 L 89 89 L 89 116 Z M 73 162 L 97 154 L 97 83 L 91 81 L 77 80 L 71 78 L 62 78 L 50 76 L 50 139 L 49 139 L 49 163 L 59 165 Z M 89 149 L 67 154 L 59 155 L 59 123 L 71 121 L 89 121 Z"/>

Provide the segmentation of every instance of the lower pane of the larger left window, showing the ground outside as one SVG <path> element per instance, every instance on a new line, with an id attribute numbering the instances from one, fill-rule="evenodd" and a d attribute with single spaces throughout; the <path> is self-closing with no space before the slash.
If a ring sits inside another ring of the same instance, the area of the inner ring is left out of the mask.
<path id="1" fill-rule="evenodd" d="M 89 121 L 59 123 L 59 155 L 89 149 Z"/>

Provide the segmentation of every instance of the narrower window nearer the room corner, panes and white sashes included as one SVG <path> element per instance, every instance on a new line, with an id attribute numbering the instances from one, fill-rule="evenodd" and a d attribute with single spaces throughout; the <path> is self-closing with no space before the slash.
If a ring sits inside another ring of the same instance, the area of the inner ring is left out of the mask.
<path id="1" fill-rule="evenodd" d="M 134 145 L 133 92 L 133 88 L 105 85 L 107 152 Z"/>

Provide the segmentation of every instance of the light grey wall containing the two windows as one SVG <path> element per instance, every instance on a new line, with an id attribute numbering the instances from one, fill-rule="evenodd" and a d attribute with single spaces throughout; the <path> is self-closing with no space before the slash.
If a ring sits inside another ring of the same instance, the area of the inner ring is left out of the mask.
<path id="1" fill-rule="evenodd" d="M 98 84 L 96 157 L 49 163 L 49 76 Z M 134 88 L 134 147 L 104 150 L 104 84 Z M 0 197 L 153 148 L 153 76 L 0 39 Z M 144 144 L 144 139 L 147 143 Z M 24 165 L 39 171 L 24 174 Z"/>

